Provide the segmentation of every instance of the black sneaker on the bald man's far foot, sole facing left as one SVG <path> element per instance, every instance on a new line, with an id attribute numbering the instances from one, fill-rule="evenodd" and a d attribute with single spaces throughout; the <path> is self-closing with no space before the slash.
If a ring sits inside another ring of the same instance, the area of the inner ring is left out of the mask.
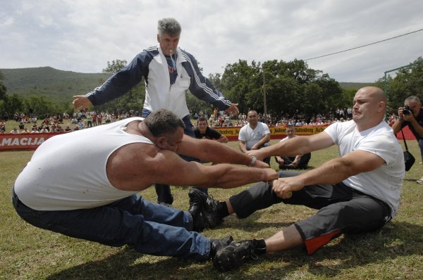
<path id="1" fill-rule="evenodd" d="M 204 225 L 210 229 L 214 229 L 221 222 L 222 219 L 219 217 L 219 212 L 217 211 L 217 203 L 212 197 L 207 196 L 199 189 L 190 188 L 188 192 L 190 197 L 190 209 L 195 207 L 195 205 L 201 205 L 202 216 L 204 217 Z"/>

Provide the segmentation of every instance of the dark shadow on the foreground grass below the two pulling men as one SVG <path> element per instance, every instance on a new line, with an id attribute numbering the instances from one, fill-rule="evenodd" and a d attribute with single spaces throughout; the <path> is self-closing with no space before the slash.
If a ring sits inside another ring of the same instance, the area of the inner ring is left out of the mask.
<path id="1" fill-rule="evenodd" d="M 232 276 L 233 279 L 283 279 L 300 269 L 307 269 L 315 276 L 333 277 L 345 269 L 389 262 L 398 256 L 422 255 L 422 232 L 420 225 L 391 222 L 379 231 L 343 236 L 314 255 L 296 248 L 264 255 L 258 261 L 248 261 L 239 270 L 225 273 L 213 269 L 211 262 L 150 258 L 125 248 L 104 260 L 71 267 L 47 279 L 216 279 Z"/>

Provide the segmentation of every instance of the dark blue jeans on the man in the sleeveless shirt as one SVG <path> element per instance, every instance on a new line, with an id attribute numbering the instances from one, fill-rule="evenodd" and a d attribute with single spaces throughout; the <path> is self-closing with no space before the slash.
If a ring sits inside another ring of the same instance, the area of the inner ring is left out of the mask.
<path id="1" fill-rule="evenodd" d="M 13 189 L 12 189 L 13 190 Z M 210 239 L 190 231 L 189 212 L 151 203 L 135 194 L 97 208 L 37 211 L 12 193 L 13 206 L 26 222 L 66 236 L 107 246 L 133 246 L 149 255 L 207 260 Z"/>

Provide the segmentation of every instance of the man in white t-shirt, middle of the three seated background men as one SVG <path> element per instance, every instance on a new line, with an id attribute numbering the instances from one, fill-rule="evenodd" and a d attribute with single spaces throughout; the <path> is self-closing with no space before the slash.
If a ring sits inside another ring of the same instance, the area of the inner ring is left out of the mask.
<path id="1" fill-rule="evenodd" d="M 247 113 L 247 125 L 240 129 L 238 134 L 238 146 L 243 153 L 250 150 L 258 150 L 270 146 L 270 130 L 264 122 L 259 122 L 256 110 L 249 110 Z M 264 158 L 264 163 L 270 165 L 270 157 Z"/>

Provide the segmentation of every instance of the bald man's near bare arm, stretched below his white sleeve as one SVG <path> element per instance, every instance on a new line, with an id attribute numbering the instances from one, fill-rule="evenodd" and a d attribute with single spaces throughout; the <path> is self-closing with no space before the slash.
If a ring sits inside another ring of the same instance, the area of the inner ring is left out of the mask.
<path id="1" fill-rule="evenodd" d="M 375 170 L 383 164 L 384 160 L 379 155 L 355 150 L 298 176 L 279 178 L 274 181 L 273 189 L 278 196 L 286 198 L 288 191 L 299 191 L 313 184 L 336 184 L 353 175 Z"/>

